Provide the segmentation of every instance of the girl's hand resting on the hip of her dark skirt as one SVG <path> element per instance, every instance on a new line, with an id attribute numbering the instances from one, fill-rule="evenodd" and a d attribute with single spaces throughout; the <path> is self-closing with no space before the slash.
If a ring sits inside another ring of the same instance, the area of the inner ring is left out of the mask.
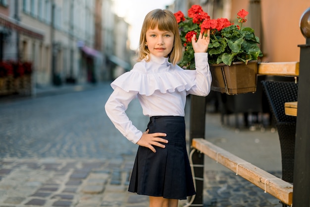
<path id="1" fill-rule="evenodd" d="M 168 143 L 168 140 L 164 138 L 160 138 L 160 137 L 166 137 L 166 136 L 167 135 L 165 133 L 160 133 L 160 132 L 149 134 L 149 130 L 147 130 L 146 132 L 142 134 L 142 137 L 137 142 L 137 144 L 139 144 L 140 146 L 148 147 L 153 152 L 156 152 L 156 149 L 154 148 L 154 146 L 158 146 L 161 148 L 166 147 L 162 143 Z M 159 143 L 159 142 L 162 142 L 162 143 Z"/>

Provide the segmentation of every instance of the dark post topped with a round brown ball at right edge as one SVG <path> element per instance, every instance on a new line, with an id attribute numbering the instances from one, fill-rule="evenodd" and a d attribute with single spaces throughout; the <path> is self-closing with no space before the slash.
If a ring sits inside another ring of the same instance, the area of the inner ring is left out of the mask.
<path id="1" fill-rule="evenodd" d="M 294 160 L 294 207 L 310 206 L 310 7 L 301 18 L 306 44 L 300 47 L 298 111 Z"/>

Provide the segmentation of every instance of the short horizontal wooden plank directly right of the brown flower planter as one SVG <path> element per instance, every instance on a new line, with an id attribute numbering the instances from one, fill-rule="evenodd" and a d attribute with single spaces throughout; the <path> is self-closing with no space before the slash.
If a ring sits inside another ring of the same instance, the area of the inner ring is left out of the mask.
<path id="1" fill-rule="evenodd" d="M 258 63 L 260 75 L 299 75 L 299 62 Z"/>

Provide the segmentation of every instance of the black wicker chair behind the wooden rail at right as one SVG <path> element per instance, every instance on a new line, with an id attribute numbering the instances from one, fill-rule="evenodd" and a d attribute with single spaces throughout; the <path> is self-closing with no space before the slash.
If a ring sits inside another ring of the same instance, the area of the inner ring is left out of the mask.
<path id="1" fill-rule="evenodd" d="M 280 139 L 282 180 L 293 183 L 296 117 L 285 115 L 284 103 L 297 101 L 298 84 L 271 80 L 261 83 Z"/>

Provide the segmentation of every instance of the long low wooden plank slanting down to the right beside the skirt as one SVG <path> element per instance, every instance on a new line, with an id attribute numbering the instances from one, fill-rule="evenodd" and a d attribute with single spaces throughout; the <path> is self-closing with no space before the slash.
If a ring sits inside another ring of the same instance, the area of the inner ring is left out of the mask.
<path id="1" fill-rule="evenodd" d="M 287 205 L 292 205 L 293 185 L 248 163 L 203 138 L 193 139 L 192 145 L 216 162 L 258 186 Z"/>

